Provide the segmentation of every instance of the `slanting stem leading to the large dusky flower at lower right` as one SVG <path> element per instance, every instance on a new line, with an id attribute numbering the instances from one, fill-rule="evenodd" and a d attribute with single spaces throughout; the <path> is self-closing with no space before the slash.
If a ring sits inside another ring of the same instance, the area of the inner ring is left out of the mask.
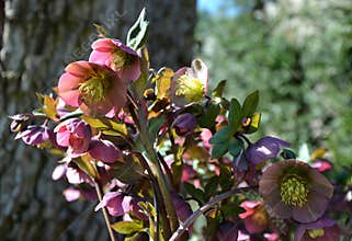
<path id="1" fill-rule="evenodd" d="M 213 206 L 215 206 L 217 203 L 229 198 L 230 196 L 238 194 L 240 192 L 247 192 L 252 188 L 256 188 L 256 186 L 249 186 L 249 187 L 240 187 L 240 188 L 234 188 L 226 193 L 219 194 L 214 196 L 212 199 L 209 199 L 204 206 L 198 208 L 196 211 L 194 211 L 184 222 L 180 225 L 178 230 L 173 232 L 172 237 L 169 241 L 175 241 L 178 238 L 180 238 L 185 230 L 204 213 L 206 213 L 208 209 L 211 209 Z"/>

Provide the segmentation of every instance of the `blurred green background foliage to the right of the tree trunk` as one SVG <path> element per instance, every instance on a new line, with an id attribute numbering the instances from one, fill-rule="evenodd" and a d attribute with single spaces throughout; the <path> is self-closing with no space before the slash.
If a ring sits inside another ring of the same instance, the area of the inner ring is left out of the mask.
<path id="1" fill-rule="evenodd" d="M 211 87 L 227 79 L 226 95 L 240 100 L 258 89 L 259 135 L 327 147 L 337 165 L 352 163 L 350 0 L 224 1 L 198 16 L 196 55 Z"/>

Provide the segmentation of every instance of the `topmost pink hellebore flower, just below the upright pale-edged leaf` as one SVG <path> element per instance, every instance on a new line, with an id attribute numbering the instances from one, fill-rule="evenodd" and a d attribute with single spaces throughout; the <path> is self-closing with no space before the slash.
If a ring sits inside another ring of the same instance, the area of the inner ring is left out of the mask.
<path id="1" fill-rule="evenodd" d="M 140 58 L 137 53 L 114 38 L 99 38 L 92 44 L 89 61 L 105 65 L 116 71 L 120 79 L 135 81 L 140 76 Z"/>

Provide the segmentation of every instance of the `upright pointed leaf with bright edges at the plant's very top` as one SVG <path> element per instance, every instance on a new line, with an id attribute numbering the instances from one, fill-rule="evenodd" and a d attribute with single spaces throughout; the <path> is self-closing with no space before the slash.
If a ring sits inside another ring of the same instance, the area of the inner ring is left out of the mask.
<path id="1" fill-rule="evenodd" d="M 146 20 L 146 9 L 144 8 L 138 20 L 129 28 L 127 34 L 127 46 L 137 50 L 143 47 L 148 38 L 149 22 Z"/>

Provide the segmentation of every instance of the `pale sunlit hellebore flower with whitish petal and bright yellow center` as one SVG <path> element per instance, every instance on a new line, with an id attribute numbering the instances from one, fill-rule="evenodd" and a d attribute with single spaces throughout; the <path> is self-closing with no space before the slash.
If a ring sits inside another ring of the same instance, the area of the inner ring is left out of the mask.
<path id="1" fill-rule="evenodd" d="M 179 69 L 171 81 L 171 100 L 183 106 L 202 100 L 207 91 L 208 71 L 201 59 L 194 59 L 191 68 Z"/>

